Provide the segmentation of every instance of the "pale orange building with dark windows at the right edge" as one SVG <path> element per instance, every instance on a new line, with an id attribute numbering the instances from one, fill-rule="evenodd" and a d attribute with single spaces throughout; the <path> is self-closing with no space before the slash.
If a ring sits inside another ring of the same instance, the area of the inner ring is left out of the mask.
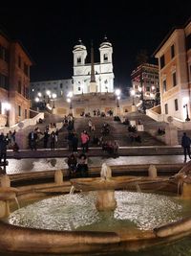
<path id="1" fill-rule="evenodd" d="M 191 105 L 191 21 L 173 29 L 155 53 L 159 59 L 161 114 L 164 120 L 190 120 Z"/>

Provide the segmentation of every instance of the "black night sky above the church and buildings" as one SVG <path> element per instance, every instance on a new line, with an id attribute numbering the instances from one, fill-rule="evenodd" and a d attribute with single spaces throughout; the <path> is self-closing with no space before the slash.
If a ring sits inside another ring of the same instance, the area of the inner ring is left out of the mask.
<path id="1" fill-rule="evenodd" d="M 98 47 L 107 35 L 114 48 L 115 85 L 130 86 L 138 52 L 147 50 L 149 60 L 157 63 L 151 56 L 161 40 L 191 15 L 191 1 L 178 0 L 118 0 L 115 4 L 106 0 L 71 0 L 41 7 L 28 5 L 29 8 L 1 6 L 0 25 L 30 53 L 34 61 L 31 81 L 71 79 L 72 51 L 78 39 L 82 39 L 89 55 L 91 40 L 94 41 L 98 62 Z"/>

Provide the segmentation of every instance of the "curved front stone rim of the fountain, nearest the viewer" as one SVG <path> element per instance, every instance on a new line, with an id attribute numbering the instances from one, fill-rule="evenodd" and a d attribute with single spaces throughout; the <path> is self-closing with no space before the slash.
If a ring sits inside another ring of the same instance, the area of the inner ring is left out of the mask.
<path id="1" fill-rule="evenodd" d="M 169 232 L 170 230 L 170 232 Z M 151 231 L 53 231 L 13 226 L 0 221 L 0 251 L 19 253 L 108 253 L 138 251 L 191 234 L 191 218 Z"/>

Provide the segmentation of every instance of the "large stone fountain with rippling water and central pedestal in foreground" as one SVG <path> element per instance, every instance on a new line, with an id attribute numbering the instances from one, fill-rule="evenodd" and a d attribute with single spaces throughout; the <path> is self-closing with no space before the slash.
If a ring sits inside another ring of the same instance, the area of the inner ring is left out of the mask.
<path id="1" fill-rule="evenodd" d="M 61 173 L 56 176 L 54 187 L 50 188 L 53 192 L 63 186 Z M 178 241 L 191 234 L 191 209 L 183 208 L 183 204 L 190 208 L 190 176 L 191 162 L 170 178 L 159 178 L 156 173 L 154 177 L 113 177 L 111 168 L 103 164 L 100 177 L 72 179 L 74 187 L 70 188 L 70 196 L 43 199 L 27 206 L 25 216 L 20 214 L 25 212 L 25 208 L 21 208 L 7 221 L 0 221 L 0 251 L 86 255 L 117 252 L 120 255 L 122 251 L 138 251 Z M 176 195 L 178 186 L 181 198 L 189 198 L 184 199 L 182 205 L 180 198 L 145 193 L 158 191 Z M 48 187 L 45 188 L 41 192 L 36 190 L 36 198 L 48 195 Z M 33 196 L 35 190 L 18 189 L 14 193 L 21 203 L 25 197 L 28 200 Z M 182 213 L 186 218 L 181 218 Z M 25 225 L 27 218 L 30 223 Z M 51 221 L 46 222 L 47 219 Z"/>

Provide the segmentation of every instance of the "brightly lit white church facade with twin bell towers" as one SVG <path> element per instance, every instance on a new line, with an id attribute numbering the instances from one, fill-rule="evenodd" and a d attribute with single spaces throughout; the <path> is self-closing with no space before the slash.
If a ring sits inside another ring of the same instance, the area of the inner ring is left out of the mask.
<path id="1" fill-rule="evenodd" d="M 79 40 L 74 46 L 74 94 L 90 93 L 91 63 L 86 63 L 87 49 Z M 104 38 L 99 47 L 100 62 L 95 63 L 96 92 L 114 92 L 113 47 Z"/>

